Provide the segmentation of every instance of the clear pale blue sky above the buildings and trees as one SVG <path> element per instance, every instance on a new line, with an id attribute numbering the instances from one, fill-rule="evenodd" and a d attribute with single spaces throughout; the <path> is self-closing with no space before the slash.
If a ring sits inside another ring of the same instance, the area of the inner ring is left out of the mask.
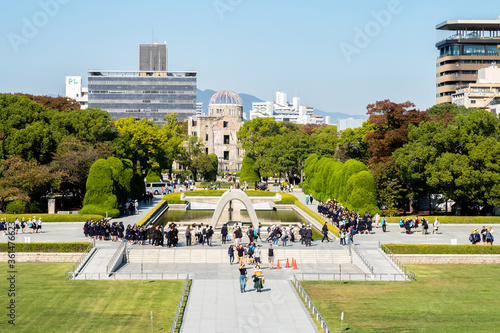
<path id="1" fill-rule="evenodd" d="M 137 70 L 154 38 L 202 90 L 284 91 L 352 115 L 384 99 L 425 110 L 446 37 L 435 26 L 499 15 L 490 0 L 2 0 L 0 92 L 64 95 L 66 76 Z"/>

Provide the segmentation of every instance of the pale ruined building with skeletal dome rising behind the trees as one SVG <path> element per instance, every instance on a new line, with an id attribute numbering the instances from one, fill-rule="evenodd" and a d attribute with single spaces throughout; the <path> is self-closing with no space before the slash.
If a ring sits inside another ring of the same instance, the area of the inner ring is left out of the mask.
<path id="1" fill-rule="evenodd" d="M 188 133 L 199 137 L 207 154 L 216 154 L 219 171 L 239 171 L 244 151 L 237 133 L 243 125 L 243 101 L 236 93 L 221 90 L 210 99 L 207 116 L 190 117 Z"/>

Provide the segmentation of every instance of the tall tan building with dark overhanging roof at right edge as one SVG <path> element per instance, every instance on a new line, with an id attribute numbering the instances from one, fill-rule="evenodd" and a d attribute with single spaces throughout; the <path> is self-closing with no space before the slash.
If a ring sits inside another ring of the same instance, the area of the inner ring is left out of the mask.
<path id="1" fill-rule="evenodd" d="M 451 34 L 436 44 L 436 103 L 451 103 L 458 89 L 477 81 L 479 69 L 500 62 L 500 16 L 445 21 L 436 29 Z"/>

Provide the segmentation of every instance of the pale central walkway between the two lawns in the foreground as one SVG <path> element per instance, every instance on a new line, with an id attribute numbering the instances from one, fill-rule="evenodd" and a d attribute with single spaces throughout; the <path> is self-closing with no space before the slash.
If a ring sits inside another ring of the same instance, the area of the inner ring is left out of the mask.
<path id="1" fill-rule="evenodd" d="M 288 280 L 266 280 L 261 293 L 251 278 L 245 293 L 237 279 L 195 279 L 181 332 L 317 332 Z"/>

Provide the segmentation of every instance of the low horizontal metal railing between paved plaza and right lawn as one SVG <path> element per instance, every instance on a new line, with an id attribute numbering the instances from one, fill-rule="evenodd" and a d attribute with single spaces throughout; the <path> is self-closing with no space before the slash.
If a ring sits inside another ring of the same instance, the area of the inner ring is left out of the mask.
<path id="1" fill-rule="evenodd" d="M 303 281 L 407 281 L 403 273 L 295 273 Z"/>

